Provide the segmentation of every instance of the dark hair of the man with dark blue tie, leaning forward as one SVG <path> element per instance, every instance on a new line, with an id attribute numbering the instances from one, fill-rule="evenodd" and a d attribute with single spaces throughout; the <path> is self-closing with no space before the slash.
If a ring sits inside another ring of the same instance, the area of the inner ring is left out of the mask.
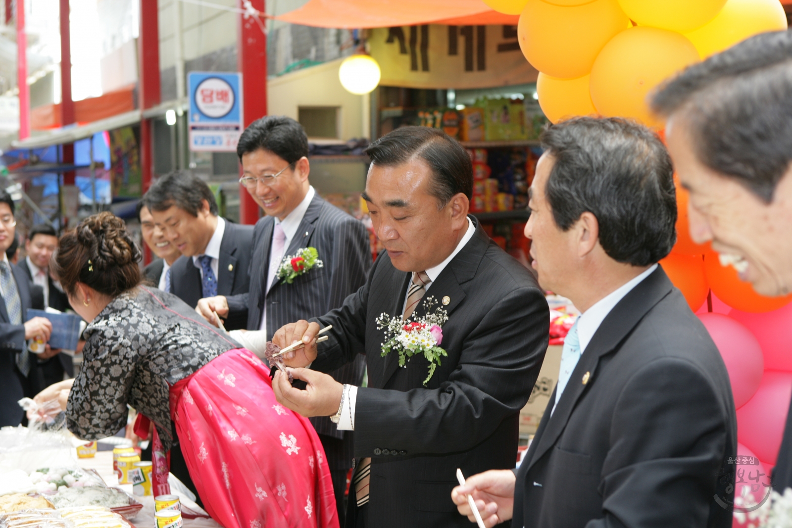
<path id="1" fill-rule="evenodd" d="M 218 210 L 215 194 L 206 182 L 189 171 L 174 170 L 154 182 L 140 203 L 148 207 L 149 211 L 166 211 L 175 205 L 192 216 L 198 216 L 204 199 L 209 203 L 209 212 L 216 216 Z"/>

